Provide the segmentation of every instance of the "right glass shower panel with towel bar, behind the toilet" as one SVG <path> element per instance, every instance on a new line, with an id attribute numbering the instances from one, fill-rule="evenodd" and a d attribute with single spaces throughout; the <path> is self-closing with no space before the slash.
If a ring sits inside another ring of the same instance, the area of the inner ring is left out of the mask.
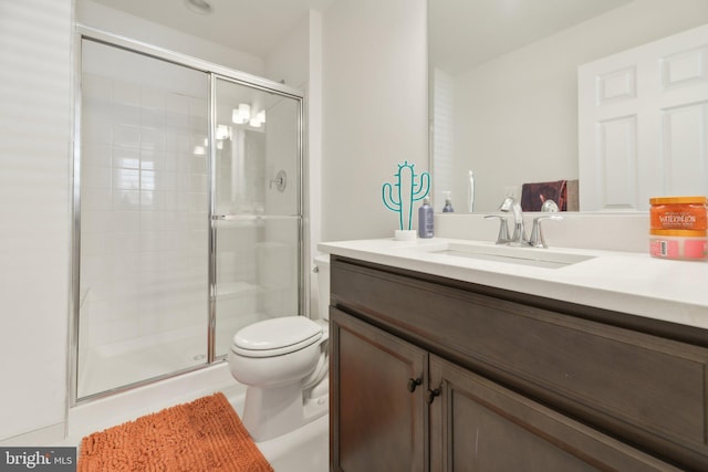
<path id="1" fill-rule="evenodd" d="M 298 97 L 217 78 L 215 356 L 257 321 L 302 313 Z"/>

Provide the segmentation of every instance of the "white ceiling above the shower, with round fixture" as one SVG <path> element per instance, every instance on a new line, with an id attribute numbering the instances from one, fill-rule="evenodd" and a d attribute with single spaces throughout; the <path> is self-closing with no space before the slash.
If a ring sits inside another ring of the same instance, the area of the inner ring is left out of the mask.
<path id="1" fill-rule="evenodd" d="M 334 0 L 207 0 L 209 14 L 194 12 L 186 0 L 91 1 L 264 57 L 310 9 L 324 11 Z"/>

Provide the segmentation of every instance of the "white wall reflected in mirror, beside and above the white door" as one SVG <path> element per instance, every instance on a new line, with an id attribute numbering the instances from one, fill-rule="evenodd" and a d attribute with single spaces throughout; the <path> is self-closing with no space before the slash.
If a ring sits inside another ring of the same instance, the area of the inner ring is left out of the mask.
<path id="1" fill-rule="evenodd" d="M 707 21 L 705 0 L 636 0 L 457 75 L 454 193 L 469 169 L 477 211 L 506 186 L 576 179 L 577 66 Z"/>

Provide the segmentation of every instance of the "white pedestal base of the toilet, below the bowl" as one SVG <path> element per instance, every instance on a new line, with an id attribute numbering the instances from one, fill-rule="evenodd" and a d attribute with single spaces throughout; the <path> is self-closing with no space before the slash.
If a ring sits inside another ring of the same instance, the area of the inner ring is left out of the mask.
<path id="1" fill-rule="evenodd" d="M 278 388 L 246 389 L 243 426 L 256 442 L 293 431 L 329 410 L 329 394 L 303 399 L 300 382 Z"/>

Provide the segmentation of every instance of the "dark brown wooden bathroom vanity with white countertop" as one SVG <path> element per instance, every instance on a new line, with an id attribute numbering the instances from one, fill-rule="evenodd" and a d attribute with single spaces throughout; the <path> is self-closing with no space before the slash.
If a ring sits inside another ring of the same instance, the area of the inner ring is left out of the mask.
<path id="1" fill-rule="evenodd" d="M 320 245 L 331 470 L 708 470 L 707 264 L 454 247 Z"/>

